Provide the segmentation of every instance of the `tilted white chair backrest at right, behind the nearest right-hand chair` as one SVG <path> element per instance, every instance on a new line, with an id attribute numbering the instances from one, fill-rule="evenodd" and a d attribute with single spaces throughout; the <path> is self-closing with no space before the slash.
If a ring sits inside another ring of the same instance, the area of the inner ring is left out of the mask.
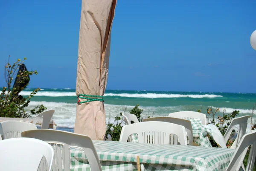
<path id="1" fill-rule="evenodd" d="M 241 116 L 241 117 L 237 117 L 237 118 L 232 119 L 232 121 L 231 121 L 229 127 L 227 128 L 227 131 L 224 135 L 224 141 L 227 142 L 227 140 L 230 137 L 230 134 L 232 133 L 232 130 L 233 130 L 234 126 L 239 125 L 239 128 L 238 128 L 236 140 L 233 142 L 233 144 L 230 148 L 236 149 L 237 146 L 239 145 L 239 142 L 240 142 L 242 136 L 244 136 L 244 134 L 246 132 L 248 118 L 250 118 L 249 115 Z"/>

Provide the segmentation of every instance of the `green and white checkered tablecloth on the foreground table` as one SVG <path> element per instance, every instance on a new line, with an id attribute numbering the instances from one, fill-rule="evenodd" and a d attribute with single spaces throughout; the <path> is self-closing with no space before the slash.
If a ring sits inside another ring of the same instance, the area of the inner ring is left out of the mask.
<path id="1" fill-rule="evenodd" d="M 132 142 L 93 141 L 102 170 L 136 171 L 137 156 L 142 171 L 225 171 L 233 149 Z M 81 149 L 71 149 L 71 171 L 90 171 Z"/>

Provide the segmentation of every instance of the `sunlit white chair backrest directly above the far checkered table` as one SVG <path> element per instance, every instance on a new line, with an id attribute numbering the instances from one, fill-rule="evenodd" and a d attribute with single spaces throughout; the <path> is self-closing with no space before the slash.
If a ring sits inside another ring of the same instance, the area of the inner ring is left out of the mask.
<path id="1" fill-rule="evenodd" d="M 199 118 L 203 125 L 207 125 L 206 114 L 194 111 L 181 111 L 170 113 L 169 117 L 180 119 L 195 119 Z"/>

